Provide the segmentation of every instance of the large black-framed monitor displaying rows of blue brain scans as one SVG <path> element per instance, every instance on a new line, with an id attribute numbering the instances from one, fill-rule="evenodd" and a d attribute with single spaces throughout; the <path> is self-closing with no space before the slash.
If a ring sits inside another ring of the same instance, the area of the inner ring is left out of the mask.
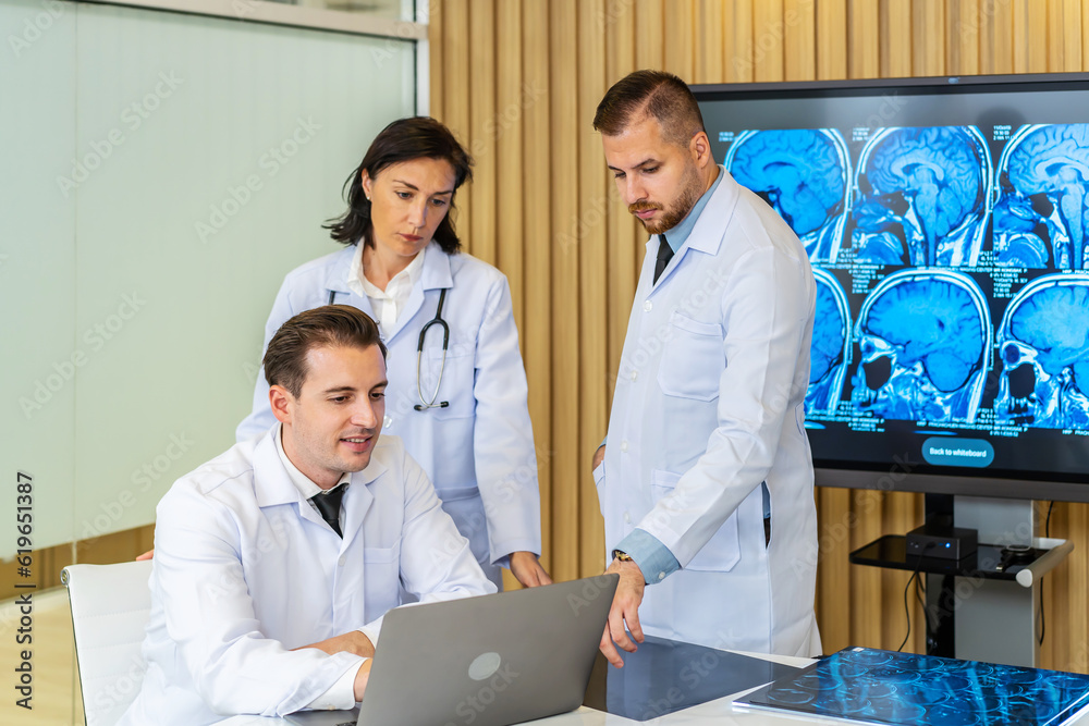
<path id="1" fill-rule="evenodd" d="M 1089 501 L 1089 74 L 693 90 L 809 253 L 818 483 Z"/>

